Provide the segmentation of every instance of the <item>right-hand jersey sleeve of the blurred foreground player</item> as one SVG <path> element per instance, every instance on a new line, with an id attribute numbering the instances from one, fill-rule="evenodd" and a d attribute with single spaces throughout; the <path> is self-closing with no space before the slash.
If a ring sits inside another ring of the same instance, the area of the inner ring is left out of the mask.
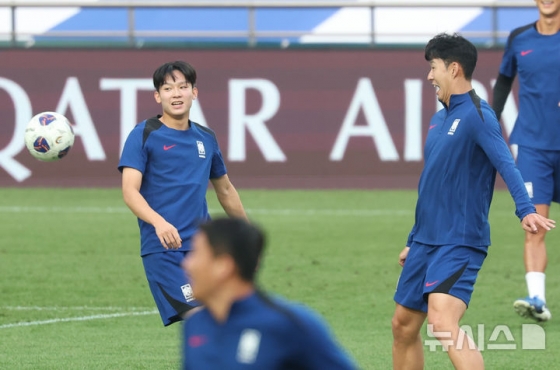
<path id="1" fill-rule="evenodd" d="M 303 353 L 302 368 L 310 370 L 354 370 L 358 369 L 350 356 L 336 342 L 326 322 L 315 312 L 304 306 L 295 308 L 303 326 L 299 336 Z"/>

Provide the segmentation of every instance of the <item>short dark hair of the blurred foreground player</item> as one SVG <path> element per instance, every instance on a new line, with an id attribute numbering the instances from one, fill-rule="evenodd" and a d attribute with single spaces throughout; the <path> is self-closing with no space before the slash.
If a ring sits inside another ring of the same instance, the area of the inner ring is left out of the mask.
<path id="1" fill-rule="evenodd" d="M 214 255 L 230 255 L 239 276 L 252 282 L 265 245 L 265 235 L 256 225 L 240 218 L 217 218 L 200 225 Z"/>

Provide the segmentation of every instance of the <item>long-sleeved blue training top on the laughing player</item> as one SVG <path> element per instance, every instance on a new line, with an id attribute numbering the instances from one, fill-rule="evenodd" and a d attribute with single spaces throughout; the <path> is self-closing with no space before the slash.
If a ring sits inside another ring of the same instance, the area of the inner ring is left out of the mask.
<path id="1" fill-rule="evenodd" d="M 451 95 L 430 121 L 418 185 L 415 224 L 407 245 L 490 245 L 488 212 L 496 169 L 522 219 L 535 212 L 496 115 L 471 90 Z"/>

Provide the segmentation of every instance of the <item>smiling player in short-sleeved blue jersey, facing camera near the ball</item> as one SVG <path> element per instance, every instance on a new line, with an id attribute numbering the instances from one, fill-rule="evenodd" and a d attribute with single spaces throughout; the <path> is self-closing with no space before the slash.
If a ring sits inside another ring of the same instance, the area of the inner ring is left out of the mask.
<path id="1" fill-rule="evenodd" d="M 198 96 L 195 69 L 183 61 L 165 63 L 153 82 L 163 113 L 130 132 L 118 168 L 124 202 L 138 217 L 146 278 L 167 326 L 198 305 L 181 262 L 198 224 L 210 218 L 208 181 L 229 216 L 246 215 L 216 135 L 190 120 Z"/>

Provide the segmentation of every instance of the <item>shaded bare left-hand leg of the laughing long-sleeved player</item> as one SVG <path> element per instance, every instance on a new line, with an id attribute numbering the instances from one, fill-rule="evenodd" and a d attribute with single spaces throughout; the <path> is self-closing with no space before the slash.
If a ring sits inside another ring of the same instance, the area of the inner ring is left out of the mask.
<path id="1" fill-rule="evenodd" d="M 393 369 L 424 368 L 424 346 L 420 329 L 425 319 L 425 312 L 406 308 L 397 303 L 392 320 Z"/>

